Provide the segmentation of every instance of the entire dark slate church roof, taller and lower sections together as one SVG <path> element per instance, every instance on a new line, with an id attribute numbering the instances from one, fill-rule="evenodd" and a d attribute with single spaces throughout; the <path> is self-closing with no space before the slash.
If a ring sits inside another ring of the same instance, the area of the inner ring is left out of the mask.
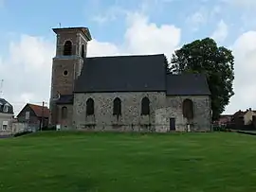
<path id="1" fill-rule="evenodd" d="M 167 92 L 210 95 L 203 75 L 167 73 L 163 54 L 86 58 L 74 93 Z"/>

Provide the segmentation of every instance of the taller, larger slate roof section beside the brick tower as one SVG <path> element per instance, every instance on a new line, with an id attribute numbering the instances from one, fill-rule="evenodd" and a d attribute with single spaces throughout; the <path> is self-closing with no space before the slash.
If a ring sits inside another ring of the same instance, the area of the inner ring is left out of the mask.
<path id="1" fill-rule="evenodd" d="M 165 91 L 164 60 L 163 54 L 86 58 L 74 93 Z"/>

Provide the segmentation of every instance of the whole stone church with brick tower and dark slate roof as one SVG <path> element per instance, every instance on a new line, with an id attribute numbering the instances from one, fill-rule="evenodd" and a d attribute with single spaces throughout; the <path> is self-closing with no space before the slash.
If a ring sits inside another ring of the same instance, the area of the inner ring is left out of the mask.
<path id="1" fill-rule="evenodd" d="M 50 123 L 62 130 L 209 131 L 210 89 L 173 75 L 163 54 L 86 58 L 87 27 L 53 28 Z"/>

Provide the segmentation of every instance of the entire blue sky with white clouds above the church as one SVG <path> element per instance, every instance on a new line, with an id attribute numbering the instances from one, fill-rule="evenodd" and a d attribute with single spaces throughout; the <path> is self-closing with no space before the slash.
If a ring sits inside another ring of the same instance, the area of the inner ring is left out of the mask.
<path id="1" fill-rule="evenodd" d="M 235 96 L 225 113 L 256 109 L 255 0 L 0 0 L 0 79 L 15 114 L 48 103 L 52 27 L 87 26 L 88 56 L 164 53 L 212 37 L 235 56 Z"/>

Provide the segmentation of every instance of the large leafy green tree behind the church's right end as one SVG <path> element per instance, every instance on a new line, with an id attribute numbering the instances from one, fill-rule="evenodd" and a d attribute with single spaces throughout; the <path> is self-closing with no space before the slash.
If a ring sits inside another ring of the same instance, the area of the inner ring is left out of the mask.
<path id="1" fill-rule="evenodd" d="M 211 92 L 212 120 L 219 117 L 234 95 L 234 57 L 231 50 L 205 38 L 184 44 L 176 50 L 170 70 L 174 73 L 203 73 Z"/>

